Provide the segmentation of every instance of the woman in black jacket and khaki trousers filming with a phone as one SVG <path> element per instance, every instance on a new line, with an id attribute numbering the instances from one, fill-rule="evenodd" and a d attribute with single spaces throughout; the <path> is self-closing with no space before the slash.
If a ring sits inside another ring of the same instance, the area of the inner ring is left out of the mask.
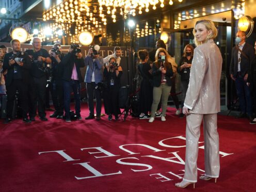
<path id="1" fill-rule="evenodd" d="M 165 49 L 159 48 L 155 54 L 155 62 L 152 66 L 153 74 L 153 103 L 151 106 L 151 117 L 149 122 L 154 121 L 154 116 L 160 99 L 162 99 L 161 120 L 166 121 L 165 114 L 167 101 L 171 91 L 171 76 L 173 75 L 171 63 L 168 62 L 169 55 Z"/>

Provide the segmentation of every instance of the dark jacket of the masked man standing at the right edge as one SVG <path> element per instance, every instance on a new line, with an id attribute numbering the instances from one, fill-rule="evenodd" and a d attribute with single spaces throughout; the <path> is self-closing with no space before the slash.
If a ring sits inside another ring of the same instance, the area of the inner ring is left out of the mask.
<path id="1" fill-rule="evenodd" d="M 249 73 L 249 69 L 252 63 L 252 60 L 254 58 L 254 49 L 253 46 L 245 43 L 243 47 L 243 53 L 247 56 L 247 58 L 241 53 L 241 73 L 242 76 L 245 76 L 245 74 Z M 234 77 L 237 76 L 237 70 L 238 70 L 238 49 L 234 46 L 232 49 L 232 56 L 231 56 L 231 62 L 230 62 L 230 74 L 233 74 Z"/>

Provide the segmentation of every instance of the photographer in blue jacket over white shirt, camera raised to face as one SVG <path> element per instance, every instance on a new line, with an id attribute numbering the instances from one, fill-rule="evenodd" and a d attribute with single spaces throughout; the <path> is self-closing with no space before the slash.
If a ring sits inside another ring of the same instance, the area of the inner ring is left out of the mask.
<path id="1" fill-rule="evenodd" d="M 85 58 L 86 75 L 85 83 L 87 89 L 88 106 L 90 114 L 85 119 L 94 119 L 94 104 L 93 104 L 93 93 L 96 98 L 96 120 L 101 119 L 101 90 L 98 84 L 102 83 L 103 74 L 103 58 L 99 56 L 99 52 L 91 47 L 88 55 Z M 97 88 L 97 89 L 96 89 Z"/>

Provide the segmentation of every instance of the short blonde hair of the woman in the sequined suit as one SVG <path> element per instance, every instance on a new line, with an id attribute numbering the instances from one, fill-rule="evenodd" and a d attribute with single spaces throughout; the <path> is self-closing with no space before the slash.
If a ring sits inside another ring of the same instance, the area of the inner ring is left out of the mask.
<path id="1" fill-rule="evenodd" d="M 195 23 L 195 26 L 194 26 L 194 29 L 193 29 L 193 34 L 194 34 L 194 37 L 195 37 L 195 44 L 197 46 L 203 43 L 203 42 L 199 42 L 196 38 L 196 25 L 199 24 L 199 23 L 203 24 L 207 30 L 212 30 L 212 33 L 207 36 L 206 41 L 208 41 L 209 39 L 215 39 L 218 35 L 218 30 L 217 30 L 217 28 L 215 27 L 214 23 L 211 20 L 199 20 L 199 21 L 197 21 Z"/>

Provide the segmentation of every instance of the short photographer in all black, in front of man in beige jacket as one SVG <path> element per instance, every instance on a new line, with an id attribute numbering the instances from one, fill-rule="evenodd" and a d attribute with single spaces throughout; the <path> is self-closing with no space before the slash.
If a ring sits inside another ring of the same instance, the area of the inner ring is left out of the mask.
<path id="1" fill-rule="evenodd" d="M 118 120 L 118 114 L 121 113 L 118 106 L 118 92 L 121 87 L 120 78 L 123 74 L 121 66 L 118 66 L 115 57 L 109 58 L 109 61 L 104 68 L 103 75 L 107 89 L 104 94 L 105 113 L 108 115 L 108 120 L 112 119 L 112 114 L 115 120 Z"/>

